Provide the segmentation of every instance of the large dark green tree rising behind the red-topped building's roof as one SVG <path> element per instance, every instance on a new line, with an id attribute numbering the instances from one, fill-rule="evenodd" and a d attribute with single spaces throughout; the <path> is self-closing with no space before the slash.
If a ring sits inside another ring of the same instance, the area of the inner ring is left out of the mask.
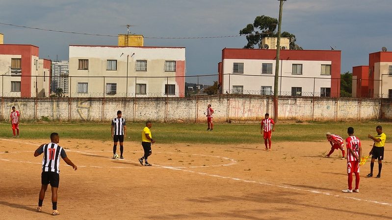
<path id="1" fill-rule="evenodd" d="M 239 31 L 240 35 L 246 35 L 246 40 L 248 41 L 244 48 L 254 48 L 255 45 L 261 44 L 261 40 L 264 37 L 277 37 L 278 33 L 275 32 L 277 25 L 278 20 L 276 18 L 264 15 L 257 16 L 253 24 L 249 23 L 244 29 Z M 285 31 L 282 32 L 281 37 L 290 38 L 291 48 L 302 49 L 302 47 L 295 44 L 295 35 Z"/>

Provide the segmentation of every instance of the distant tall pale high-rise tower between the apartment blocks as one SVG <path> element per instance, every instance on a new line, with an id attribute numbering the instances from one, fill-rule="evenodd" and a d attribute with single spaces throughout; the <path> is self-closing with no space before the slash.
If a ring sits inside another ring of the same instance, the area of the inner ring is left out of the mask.
<path id="1" fill-rule="evenodd" d="M 61 88 L 65 96 L 68 96 L 69 89 L 69 62 L 52 62 L 52 92 Z"/>

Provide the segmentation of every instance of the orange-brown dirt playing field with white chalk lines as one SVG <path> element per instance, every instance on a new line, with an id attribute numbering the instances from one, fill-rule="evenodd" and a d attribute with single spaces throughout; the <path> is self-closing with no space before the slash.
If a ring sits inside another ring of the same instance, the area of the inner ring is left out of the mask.
<path id="1" fill-rule="evenodd" d="M 0 219 L 50 217 L 50 190 L 43 212 L 35 212 L 42 155 L 33 151 L 46 142 L 0 139 Z M 365 154 L 371 144 L 363 141 Z M 341 193 L 347 188 L 341 152 L 322 157 L 327 141 L 273 143 L 271 152 L 260 143 L 156 143 L 152 167 L 137 161 L 139 142 L 125 142 L 124 160 L 110 159 L 111 142 L 60 139 L 59 145 L 78 170 L 61 162 L 56 219 L 392 219 L 389 144 L 381 178 L 365 177 L 367 162 L 360 193 L 352 194 Z"/>

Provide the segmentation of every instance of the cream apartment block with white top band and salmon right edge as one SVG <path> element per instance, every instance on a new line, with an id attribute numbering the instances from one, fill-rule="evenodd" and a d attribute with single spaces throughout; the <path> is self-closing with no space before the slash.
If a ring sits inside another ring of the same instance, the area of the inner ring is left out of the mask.
<path id="1" fill-rule="evenodd" d="M 183 97 L 184 47 L 69 46 L 71 97 Z"/>

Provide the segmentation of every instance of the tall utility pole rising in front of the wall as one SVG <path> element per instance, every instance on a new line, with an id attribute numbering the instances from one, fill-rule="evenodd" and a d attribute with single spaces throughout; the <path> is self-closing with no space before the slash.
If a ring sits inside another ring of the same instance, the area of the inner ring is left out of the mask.
<path id="1" fill-rule="evenodd" d="M 276 62 L 275 62 L 275 81 L 274 81 L 274 121 L 278 121 L 278 81 L 279 81 L 279 59 L 280 59 L 280 43 L 281 43 L 281 27 L 282 27 L 282 11 L 283 2 L 279 0 L 279 21 L 278 21 L 278 40 L 276 42 Z"/>

